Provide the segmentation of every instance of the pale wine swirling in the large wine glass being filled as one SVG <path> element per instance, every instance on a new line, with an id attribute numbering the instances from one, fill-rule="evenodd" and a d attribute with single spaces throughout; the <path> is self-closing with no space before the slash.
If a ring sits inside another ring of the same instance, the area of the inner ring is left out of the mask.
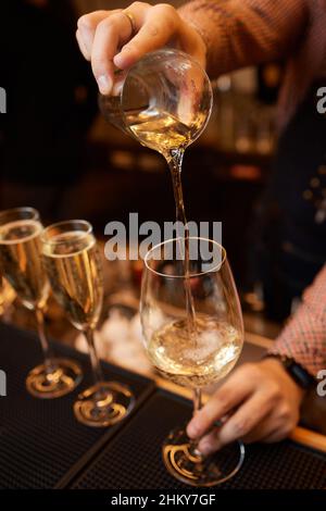
<path id="1" fill-rule="evenodd" d="M 189 342 L 185 320 L 154 332 L 148 346 L 152 364 L 167 379 L 190 388 L 210 385 L 236 364 L 242 336 L 233 325 L 198 313 L 196 345 Z"/>

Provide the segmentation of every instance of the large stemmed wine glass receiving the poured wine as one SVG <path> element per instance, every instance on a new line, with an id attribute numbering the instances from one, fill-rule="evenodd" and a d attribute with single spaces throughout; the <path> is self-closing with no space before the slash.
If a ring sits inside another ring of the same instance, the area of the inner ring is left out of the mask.
<path id="1" fill-rule="evenodd" d="M 188 270 L 185 273 L 185 250 Z M 196 306 L 196 328 L 189 331 L 185 281 Z M 140 316 L 145 347 L 154 367 L 172 382 L 193 391 L 195 413 L 201 389 L 226 376 L 243 344 L 237 289 L 224 248 L 216 241 L 175 238 L 153 247 L 145 258 Z M 171 474 L 192 486 L 213 486 L 241 466 L 240 441 L 204 458 L 185 427 L 163 444 L 163 461 Z"/>

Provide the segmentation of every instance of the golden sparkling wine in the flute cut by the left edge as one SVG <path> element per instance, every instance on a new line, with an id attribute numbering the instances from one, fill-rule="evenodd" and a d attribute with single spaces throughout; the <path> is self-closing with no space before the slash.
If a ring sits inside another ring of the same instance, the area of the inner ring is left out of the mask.
<path id="1" fill-rule="evenodd" d="M 42 308 L 49 285 L 39 257 L 42 226 L 34 220 L 10 222 L 0 227 L 0 261 L 8 282 L 30 310 Z"/>

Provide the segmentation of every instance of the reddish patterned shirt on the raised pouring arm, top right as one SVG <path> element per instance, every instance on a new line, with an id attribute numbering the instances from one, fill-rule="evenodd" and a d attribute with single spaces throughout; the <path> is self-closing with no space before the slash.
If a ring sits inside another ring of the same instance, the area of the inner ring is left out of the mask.
<path id="1" fill-rule="evenodd" d="M 180 15 L 202 35 L 211 77 L 247 65 L 286 60 L 279 125 L 326 75 L 326 0 L 195 0 Z"/>

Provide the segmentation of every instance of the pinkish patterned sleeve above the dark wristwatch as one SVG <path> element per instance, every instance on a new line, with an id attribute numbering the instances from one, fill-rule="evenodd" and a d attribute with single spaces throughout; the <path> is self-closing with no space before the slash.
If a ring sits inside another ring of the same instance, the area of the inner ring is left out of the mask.
<path id="1" fill-rule="evenodd" d="M 313 376 L 326 369 L 326 264 L 269 352 L 292 357 Z"/>

